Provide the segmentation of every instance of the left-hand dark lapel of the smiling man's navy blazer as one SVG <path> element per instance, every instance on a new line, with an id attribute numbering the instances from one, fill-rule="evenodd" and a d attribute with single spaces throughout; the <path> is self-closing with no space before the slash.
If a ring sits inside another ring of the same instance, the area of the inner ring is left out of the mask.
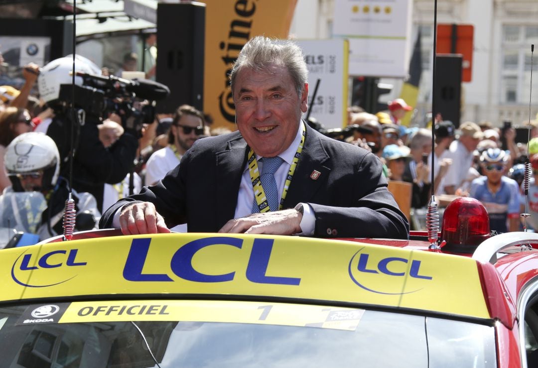
<path id="1" fill-rule="evenodd" d="M 246 165 L 246 142 L 242 137 L 229 140 L 225 151 L 216 154 L 217 178 L 216 186 L 217 225 L 222 227 L 233 218 L 237 206 L 237 193 L 241 183 L 243 168 Z"/>

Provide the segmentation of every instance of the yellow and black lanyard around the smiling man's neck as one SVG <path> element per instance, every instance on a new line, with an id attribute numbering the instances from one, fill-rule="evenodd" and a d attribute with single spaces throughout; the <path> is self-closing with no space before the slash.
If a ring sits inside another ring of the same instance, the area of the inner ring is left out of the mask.
<path id="1" fill-rule="evenodd" d="M 288 194 L 289 185 L 292 182 L 293 174 L 295 173 L 295 168 L 297 167 L 297 162 L 299 162 L 299 157 L 301 157 L 301 152 L 303 145 L 305 145 L 305 137 L 306 137 L 306 129 L 305 125 L 301 122 L 301 128 L 302 128 L 302 135 L 301 135 L 301 143 L 299 143 L 299 147 L 297 147 L 297 152 L 295 152 L 295 155 L 292 160 L 292 165 L 289 166 L 288 175 L 286 177 L 286 182 L 284 183 L 284 190 L 282 190 L 282 197 L 280 199 L 280 204 L 278 206 L 278 209 L 282 209 L 282 203 L 284 203 L 284 200 L 286 199 L 286 194 Z M 259 196 L 256 197 L 256 202 L 258 203 L 258 208 L 260 210 L 260 213 L 265 213 L 270 211 L 269 204 L 267 203 L 267 198 L 265 196 L 264 188 L 261 186 L 261 180 L 260 180 L 260 173 L 258 170 L 258 161 L 256 160 L 256 154 L 254 154 L 254 151 L 252 151 L 252 148 L 249 150 L 249 173 L 250 173 L 250 180 L 252 181 L 252 189 L 254 189 L 254 193 L 261 193 Z"/>

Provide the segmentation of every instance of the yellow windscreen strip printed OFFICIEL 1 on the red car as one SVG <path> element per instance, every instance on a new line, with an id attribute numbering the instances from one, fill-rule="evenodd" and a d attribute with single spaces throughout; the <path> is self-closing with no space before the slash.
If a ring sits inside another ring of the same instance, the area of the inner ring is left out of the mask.
<path id="1" fill-rule="evenodd" d="M 215 300 L 73 302 L 58 323 L 178 321 L 279 324 L 355 331 L 364 309 Z"/>

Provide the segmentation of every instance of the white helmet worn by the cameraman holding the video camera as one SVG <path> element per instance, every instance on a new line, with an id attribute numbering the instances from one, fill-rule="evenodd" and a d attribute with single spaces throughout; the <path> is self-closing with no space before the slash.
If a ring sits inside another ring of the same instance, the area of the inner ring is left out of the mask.
<path id="1" fill-rule="evenodd" d="M 69 74 L 73 71 L 73 55 L 67 55 L 49 62 L 45 65 L 38 76 L 39 96 L 49 103 L 58 99 L 60 84 L 71 84 L 73 77 Z M 75 55 L 75 72 L 101 75 L 101 69 L 94 62 Z M 82 77 L 75 76 L 75 84 L 82 85 Z"/>

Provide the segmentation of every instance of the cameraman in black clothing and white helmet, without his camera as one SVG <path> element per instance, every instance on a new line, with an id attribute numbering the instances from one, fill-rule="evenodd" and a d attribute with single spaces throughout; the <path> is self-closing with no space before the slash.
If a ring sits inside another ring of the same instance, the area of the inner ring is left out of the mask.
<path id="1" fill-rule="evenodd" d="M 54 110 L 54 118 L 47 135 L 52 137 L 60 153 L 60 175 L 73 175 L 73 189 L 93 194 L 102 211 L 104 184 L 122 181 L 131 168 L 138 146 L 138 126 L 132 124 L 131 111 L 117 111 L 125 124 L 125 133 L 106 148 L 99 139 L 97 126 L 106 115 L 105 92 L 82 86 L 84 80 L 75 76 L 73 101 L 73 58 L 66 56 L 49 62 L 38 78 L 41 98 Z M 75 72 L 101 75 L 101 70 L 82 56 L 75 56 Z M 141 125 L 141 124 L 140 124 Z M 73 141 L 72 141 L 73 129 Z M 73 147 L 73 148 L 72 148 Z M 73 158 L 73 172 L 69 173 L 69 158 Z"/>

